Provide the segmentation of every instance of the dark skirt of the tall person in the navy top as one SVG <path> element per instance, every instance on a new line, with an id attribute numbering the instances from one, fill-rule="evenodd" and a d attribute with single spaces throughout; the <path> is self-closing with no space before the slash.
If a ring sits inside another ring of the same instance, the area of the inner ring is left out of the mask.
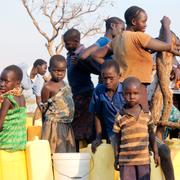
<path id="1" fill-rule="evenodd" d="M 92 92 L 83 95 L 73 96 L 75 104 L 74 120 L 72 127 L 76 140 L 93 140 L 94 131 L 94 115 L 89 112 L 89 104 Z"/>

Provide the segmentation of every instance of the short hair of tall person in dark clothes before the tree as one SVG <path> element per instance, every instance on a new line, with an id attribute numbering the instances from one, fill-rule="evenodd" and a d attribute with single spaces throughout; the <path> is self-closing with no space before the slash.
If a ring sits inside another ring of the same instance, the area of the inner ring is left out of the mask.
<path id="1" fill-rule="evenodd" d="M 81 39 L 81 33 L 77 29 L 74 29 L 74 28 L 67 30 L 63 35 L 64 41 L 74 40 L 74 41 L 80 42 L 80 39 Z"/>

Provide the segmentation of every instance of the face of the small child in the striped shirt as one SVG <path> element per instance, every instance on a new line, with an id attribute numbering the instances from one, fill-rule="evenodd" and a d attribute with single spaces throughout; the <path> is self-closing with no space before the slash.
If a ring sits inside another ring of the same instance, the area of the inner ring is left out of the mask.
<path id="1" fill-rule="evenodd" d="M 130 84 L 125 87 L 123 92 L 124 99 L 128 106 L 133 107 L 140 101 L 140 85 Z"/>

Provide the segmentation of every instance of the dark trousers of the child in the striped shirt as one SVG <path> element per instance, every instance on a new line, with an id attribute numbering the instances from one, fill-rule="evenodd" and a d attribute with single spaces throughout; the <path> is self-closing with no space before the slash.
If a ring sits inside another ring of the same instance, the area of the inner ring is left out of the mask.
<path id="1" fill-rule="evenodd" d="M 121 180 L 150 180 L 150 165 L 121 165 Z"/>

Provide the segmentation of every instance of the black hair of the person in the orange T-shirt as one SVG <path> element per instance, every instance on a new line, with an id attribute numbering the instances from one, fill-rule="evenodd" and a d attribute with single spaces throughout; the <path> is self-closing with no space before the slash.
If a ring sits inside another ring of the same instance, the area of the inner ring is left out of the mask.
<path id="1" fill-rule="evenodd" d="M 137 18 L 141 12 L 145 12 L 145 10 L 138 6 L 129 7 L 124 14 L 127 26 L 132 26 L 132 20 Z"/>

